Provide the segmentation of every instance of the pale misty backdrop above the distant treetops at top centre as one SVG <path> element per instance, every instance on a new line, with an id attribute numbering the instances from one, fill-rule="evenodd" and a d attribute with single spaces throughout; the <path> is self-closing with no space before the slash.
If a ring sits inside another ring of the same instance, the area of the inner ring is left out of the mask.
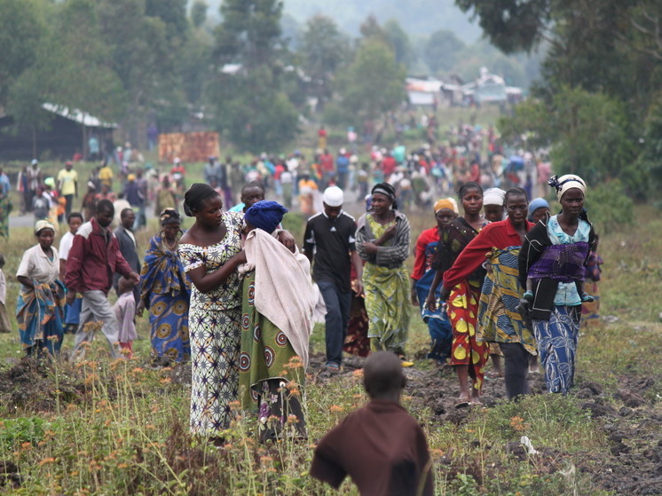
<path id="1" fill-rule="evenodd" d="M 218 16 L 221 0 L 207 0 L 209 16 Z M 285 12 L 303 24 L 316 14 L 335 19 L 338 26 L 351 35 L 359 33 L 359 26 L 369 15 L 380 23 L 398 20 L 410 35 L 430 35 L 438 29 L 449 29 L 464 43 L 474 43 L 481 35 L 477 23 L 458 9 L 453 0 L 284 0 Z"/>

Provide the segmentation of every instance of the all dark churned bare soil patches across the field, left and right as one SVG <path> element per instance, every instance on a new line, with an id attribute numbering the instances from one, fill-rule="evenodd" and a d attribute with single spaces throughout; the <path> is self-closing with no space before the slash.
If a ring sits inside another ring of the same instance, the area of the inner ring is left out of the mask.
<path id="1" fill-rule="evenodd" d="M 343 370 L 333 374 L 325 369 L 324 363 L 323 355 L 311 356 L 309 371 L 313 381 L 327 382 L 337 376 L 351 375 L 361 368 L 363 358 L 348 357 L 343 363 Z M 412 367 L 404 370 L 408 379 L 406 394 L 414 398 L 415 404 L 430 409 L 433 413 L 432 424 L 461 424 L 467 421 L 471 408 L 478 407 L 455 407 L 458 390 L 450 367 L 431 370 Z M 191 382 L 190 366 L 175 366 L 166 371 L 165 374 L 173 382 Z M 616 494 L 662 494 L 662 408 L 659 401 L 649 399 L 652 395 L 646 395 L 656 381 L 662 381 L 662 378 L 623 375 L 615 392 L 613 389 L 607 390 L 600 382 L 579 383 L 571 394 L 581 400 L 582 407 L 603 429 L 611 453 L 571 454 L 562 453 L 554 446 L 536 445 L 536 450 L 540 452 L 536 455 L 539 457 L 535 461 L 536 466 L 550 472 L 561 469 L 563 461 L 571 460 L 579 471 L 591 477 L 596 486 Z M 83 382 L 74 376 L 60 374 L 58 386 L 60 403 L 81 403 L 90 399 Z M 544 394 L 543 375 L 530 374 L 530 386 L 533 393 Z M 56 408 L 55 390 L 52 370 L 36 364 L 34 360 L 21 360 L 12 368 L 0 372 L 0 400 L 10 406 L 35 413 L 52 412 Z M 503 398 L 503 380 L 487 379 L 482 397 L 484 407 L 489 408 Z M 614 404 L 622 406 L 616 409 L 612 406 Z M 532 462 L 532 457 L 527 456 L 524 446 L 519 443 L 508 443 L 501 448 L 493 446 L 493 449 L 503 449 L 522 461 Z M 461 461 L 448 460 L 449 466 L 453 463 L 458 471 L 472 472 L 466 464 L 461 466 Z M 480 474 L 472 475 L 480 482 Z M 17 477 L 12 472 L 11 462 L 0 463 L 0 487 L 5 483 L 16 485 Z"/>

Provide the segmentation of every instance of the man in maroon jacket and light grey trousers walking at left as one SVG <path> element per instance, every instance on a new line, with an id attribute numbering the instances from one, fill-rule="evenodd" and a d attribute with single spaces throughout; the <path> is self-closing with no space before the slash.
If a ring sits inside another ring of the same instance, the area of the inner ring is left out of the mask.
<path id="1" fill-rule="evenodd" d="M 113 203 L 108 200 L 99 201 L 96 215 L 76 232 L 74 244 L 67 257 L 67 303 L 74 302 L 76 293 L 83 295 L 80 324 L 75 334 L 74 355 L 83 342 L 91 342 L 94 339 L 94 332 L 86 331 L 85 324 L 96 320 L 103 322 L 101 330 L 106 335 L 113 358 L 121 357 L 117 340 L 119 328 L 107 295 L 113 286 L 115 272 L 119 272 L 134 284 L 138 284 L 140 278 L 136 272 L 131 271 L 130 265 L 120 252 L 117 238 L 108 229 L 113 217 Z"/>

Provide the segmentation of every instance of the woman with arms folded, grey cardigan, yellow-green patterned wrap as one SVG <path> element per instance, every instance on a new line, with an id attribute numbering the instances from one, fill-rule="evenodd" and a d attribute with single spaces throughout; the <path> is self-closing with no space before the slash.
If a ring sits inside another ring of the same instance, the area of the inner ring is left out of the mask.
<path id="1" fill-rule="evenodd" d="M 398 212 L 396 192 L 388 183 L 374 185 L 372 208 L 359 218 L 356 247 L 362 260 L 366 293 L 368 337 L 373 351 L 388 350 L 405 358 L 405 345 L 412 310 L 408 274 L 404 263 L 409 256 L 411 228 Z"/>

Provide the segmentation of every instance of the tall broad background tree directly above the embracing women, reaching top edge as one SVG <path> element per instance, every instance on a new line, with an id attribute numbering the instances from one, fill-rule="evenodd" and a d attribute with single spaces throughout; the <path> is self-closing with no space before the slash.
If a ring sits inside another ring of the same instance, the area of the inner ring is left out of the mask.
<path id="1" fill-rule="evenodd" d="M 298 113 L 283 91 L 282 7 L 276 0 L 226 0 L 215 33 L 215 121 L 232 143 L 254 153 L 280 149 L 298 131 Z M 223 71 L 230 63 L 240 64 L 236 74 Z"/>

